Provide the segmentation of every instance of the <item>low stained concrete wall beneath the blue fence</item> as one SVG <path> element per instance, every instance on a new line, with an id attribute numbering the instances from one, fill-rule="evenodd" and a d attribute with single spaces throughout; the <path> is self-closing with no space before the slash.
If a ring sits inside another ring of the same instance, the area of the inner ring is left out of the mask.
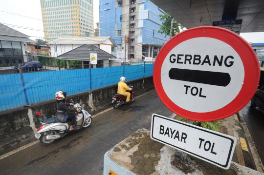
<path id="1" fill-rule="evenodd" d="M 143 79 L 128 82 L 134 86 L 136 95 L 154 87 L 152 77 L 144 79 L 145 90 L 142 82 Z M 80 103 L 92 115 L 98 110 L 110 107 L 110 97 L 116 92 L 117 85 L 114 85 L 67 98 Z M 41 111 L 41 117 L 35 115 L 37 111 Z M 0 112 L 0 155 L 35 140 L 33 134 L 40 126 L 40 121 L 55 115 L 55 99 Z"/>

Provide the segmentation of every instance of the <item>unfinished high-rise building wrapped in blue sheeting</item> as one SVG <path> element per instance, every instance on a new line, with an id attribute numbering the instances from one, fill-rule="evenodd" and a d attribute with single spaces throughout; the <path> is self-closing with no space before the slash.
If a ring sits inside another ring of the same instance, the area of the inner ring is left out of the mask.
<path id="1" fill-rule="evenodd" d="M 158 33 L 164 11 L 150 0 L 100 0 L 99 9 L 100 36 L 114 39 L 117 58 L 155 57 L 169 39 Z"/>

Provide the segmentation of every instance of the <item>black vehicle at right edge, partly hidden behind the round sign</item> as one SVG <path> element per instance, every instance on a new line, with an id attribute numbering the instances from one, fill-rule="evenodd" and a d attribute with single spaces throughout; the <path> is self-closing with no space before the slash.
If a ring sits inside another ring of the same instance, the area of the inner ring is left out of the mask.
<path id="1" fill-rule="evenodd" d="M 264 69 L 261 70 L 259 88 L 251 99 L 250 106 L 251 108 L 258 107 L 264 114 Z"/>

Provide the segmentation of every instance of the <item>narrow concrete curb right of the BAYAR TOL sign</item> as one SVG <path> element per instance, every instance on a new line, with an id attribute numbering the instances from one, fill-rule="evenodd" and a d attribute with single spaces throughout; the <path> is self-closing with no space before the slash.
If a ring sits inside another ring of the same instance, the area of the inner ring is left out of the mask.
<path id="1" fill-rule="evenodd" d="M 247 124 L 244 120 L 244 116 L 243 116 L 241 111 L 238 112 L 238 117 L 239 117 L 240 123 L 242 125 L 243 136 L 244 136 L 244 138 L 246 138 L 245 140 L 246 140 L 247 146 L 249 148 L 249 153 L 250 153 L 252 162 L 254 163 L 254 168 L 257 171 L 264 173 L 263 163 L 262 163 L 261 158 L 258 154 L 257 148 L 254 144 L 254 141 L 253 141 L 251 135 L 250 135 Z M 242 147 L 242 149 L 243 149 L 243 147 Z"/>

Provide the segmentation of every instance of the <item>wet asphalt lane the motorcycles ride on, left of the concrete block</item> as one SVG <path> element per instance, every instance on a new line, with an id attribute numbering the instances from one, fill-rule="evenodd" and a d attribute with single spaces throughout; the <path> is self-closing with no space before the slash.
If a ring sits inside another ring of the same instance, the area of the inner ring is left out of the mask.
<path id="1" fill-rule="evenodd" d="M 0 160 L 0 174 L 102 175 L 104 154 L 136 130 L 150 129 L 153 113 L 172 115 L 155 91 L 94 117 L 90 127 L 52 145 L 37 143 Z"/>

